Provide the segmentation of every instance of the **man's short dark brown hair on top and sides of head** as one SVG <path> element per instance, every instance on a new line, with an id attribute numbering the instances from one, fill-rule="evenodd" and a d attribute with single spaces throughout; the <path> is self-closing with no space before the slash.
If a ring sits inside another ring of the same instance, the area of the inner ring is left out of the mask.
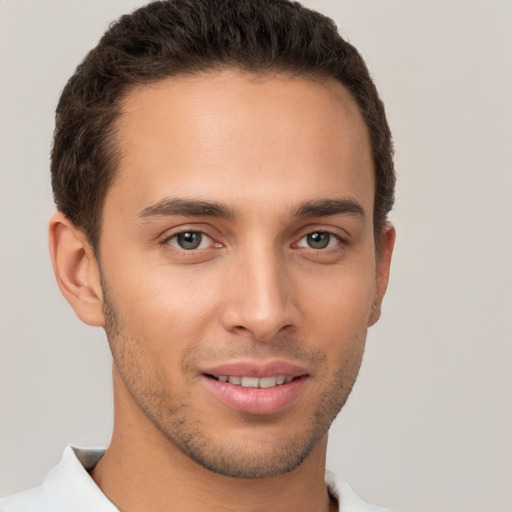
<path id="1" fill-rule="evenodd" d="M 97 251 L 105 195 L 118 166 L 121 100 L 137 84 L 220 67 L 334 78 L 350 91 L 370 135 L 378 245 L 395 188 L 384 106 L 362 57 L 335 23 L 288 0 L 163 0 L 113 23 L 57 106 L 51 159 L 57 208 Z"/>

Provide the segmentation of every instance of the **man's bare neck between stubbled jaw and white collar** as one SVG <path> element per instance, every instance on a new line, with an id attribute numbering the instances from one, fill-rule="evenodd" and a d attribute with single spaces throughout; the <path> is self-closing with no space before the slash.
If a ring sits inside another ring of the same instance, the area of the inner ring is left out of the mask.
<path id="1" fill-rule="evenodd" d="M 115 390 L 112 442 L 92 472 L 123 512 L 327 512 L 336 510 L 325 486 L 327 436 L 294 470 L 268 478 L 234 478 L 190 459 Z M 129 418 L 129 420 L 128 420 Z"/>

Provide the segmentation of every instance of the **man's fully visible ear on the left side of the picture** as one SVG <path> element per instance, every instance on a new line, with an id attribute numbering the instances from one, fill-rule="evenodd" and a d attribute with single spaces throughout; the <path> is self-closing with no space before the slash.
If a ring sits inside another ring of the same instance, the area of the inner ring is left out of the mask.
<path id="1" fill-rule="evenodd" d="M 82 322 L 103 327 L 99 265 L 85 234 L 61 212 L 50 219 L 50 255 L 62 295 Z"/>

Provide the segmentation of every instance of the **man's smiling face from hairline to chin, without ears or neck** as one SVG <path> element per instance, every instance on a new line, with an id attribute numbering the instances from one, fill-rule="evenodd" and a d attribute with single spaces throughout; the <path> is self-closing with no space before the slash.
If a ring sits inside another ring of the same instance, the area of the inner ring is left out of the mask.
<path id="1" fill-rule="evenodd" d="M 131 428 L 225 475 L 295 468 L 383 294 L 355 103 L 335 82 L 222 71 L 136 88 L 118 127 L 100 254 Z"/>

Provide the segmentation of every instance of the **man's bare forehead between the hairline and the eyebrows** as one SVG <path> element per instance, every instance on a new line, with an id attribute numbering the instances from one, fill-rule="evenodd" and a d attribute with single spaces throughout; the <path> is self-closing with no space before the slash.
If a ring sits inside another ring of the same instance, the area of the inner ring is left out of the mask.
<path id="1" fill-rule="evenodd" d="M 106 203 L 179 195 L 243 206 L 248 195 L 293 203 L 309 193 L 373 204 L 367 128 L 334 80 L 230 70 L 166 79 L 131 90 L 117 128 L 121 163 Z"/>

